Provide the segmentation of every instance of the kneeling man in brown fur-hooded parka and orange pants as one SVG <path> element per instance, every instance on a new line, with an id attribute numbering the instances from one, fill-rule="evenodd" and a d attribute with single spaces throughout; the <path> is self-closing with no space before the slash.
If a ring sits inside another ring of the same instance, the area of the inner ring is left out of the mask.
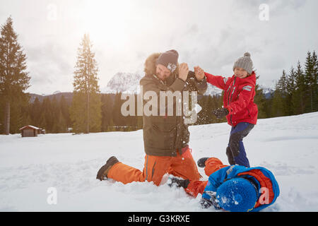
<path id="1" fill-rule="evenodd" d="M 147 92 L 159 97 L 162 92 L 180 92 L 187 87 L 189 69 L 187 64 L 178 65 L 179 54 L 170 50 L 162 54 L 152 54 L 145 62 L 145 76 L 141 79 L 142 95 Z M 205 76 L 196 76 L 189 87 L 203 94 L 207 83 Z M 181 100 L 173 99 L 172 106 L 176 107 Z M 147 100 L 143 100 L 143 107 Z M 165 105 L 167 107 L 168 105 Z M 189 130 L 184 124 L 183 112 L 175 114 L 146 115 L 143 112 L 143 143 L 145 148 L 145 164 L 143 171 L 124 165 L 116 157 L 107 160 L 97 174 L 97 179 L 111 178 L 124 184 L 131 182 L 153 182 L 159 185 L 165 173 L 184 179 L 199 180 L 201 175 L 189 149 Z"/>

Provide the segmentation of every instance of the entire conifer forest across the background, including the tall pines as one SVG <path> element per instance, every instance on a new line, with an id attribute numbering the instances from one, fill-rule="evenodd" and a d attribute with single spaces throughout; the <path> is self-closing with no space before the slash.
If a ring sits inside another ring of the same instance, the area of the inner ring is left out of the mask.
<path id="1" fill-rule="evenodd" d="M 19 133 L 19 129 L 28 124 L 45 129 L 47 133 L 142 129 L 141 116 L 124 117 L 121 114 L 122 104 L 126 101 L 122 100 L 122 93 L 100 93 L 98 64 L 88 34 L 83 36 L 78 47 L 71 101 L 61 95 L 60 98 L 45 97 L 42 101 L 35 98 L 33 102 L 30 102 L 30 94 L 25 93 L 30 87 L 30 75 L 11 17 L 1 26 L 0 35 L 0 133 Z M 316 52 L 307 52 L 305 65 L 301 66 L 298 61 L 289 73 L 283 70 L 269 95 L 256 85 L 254 102 L 259 108 L 259 119 L 317 112 L 317 71 Z M 137 100 L 136 95 L 134 99 Z M 216 119 L 212 114 L 213 109 L 222 107 L 223 93 L 199 96 L 198 104 L 201 111 L 195 125 L 226 121 Z"/>

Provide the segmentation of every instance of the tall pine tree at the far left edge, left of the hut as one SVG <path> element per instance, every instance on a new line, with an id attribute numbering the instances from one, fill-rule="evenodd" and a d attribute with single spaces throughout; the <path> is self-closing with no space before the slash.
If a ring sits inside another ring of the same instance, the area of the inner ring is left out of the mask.
<path id="1" fill-rule="evenodd" d="M 18 96 L 25 95 L 30 76 L 25 71 L 26 55 L 18 43 L 18 35 L 13 30 L 13 20 L 9 17 L 1 26 L 0 37 L 0 96 L 5 100 L 4 133 L 10 132 L 11 104 Z"/>

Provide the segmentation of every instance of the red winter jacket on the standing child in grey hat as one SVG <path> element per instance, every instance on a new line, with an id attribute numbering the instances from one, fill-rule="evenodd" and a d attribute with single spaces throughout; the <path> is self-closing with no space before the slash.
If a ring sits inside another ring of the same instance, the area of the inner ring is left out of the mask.
<path id="1" fill-rule="evenodd" d="M 228 124 L 236 126 L 240 122 L 257 124 L 257 105 L 254 103 L 256 76 L 254 71 L 251 76 L 231 78 L 213 76 L 205 73 L 206 81 L 224 90 L 223 105 L 228 109 Z"/>

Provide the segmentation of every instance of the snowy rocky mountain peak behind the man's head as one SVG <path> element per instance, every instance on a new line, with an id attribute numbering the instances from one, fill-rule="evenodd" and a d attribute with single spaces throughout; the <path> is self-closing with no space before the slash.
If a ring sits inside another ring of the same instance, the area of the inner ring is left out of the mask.
<path id="1" fill-rule="evenodd" d="M 139 93 L 139 81 L 143 78 L 143 72 L 136 73 L 116 73 L 105 88 L 101 88 L 101 93 Z M 204 95 L 220 95 L 222 90 L 208 83 L 208 89 Z"/>

